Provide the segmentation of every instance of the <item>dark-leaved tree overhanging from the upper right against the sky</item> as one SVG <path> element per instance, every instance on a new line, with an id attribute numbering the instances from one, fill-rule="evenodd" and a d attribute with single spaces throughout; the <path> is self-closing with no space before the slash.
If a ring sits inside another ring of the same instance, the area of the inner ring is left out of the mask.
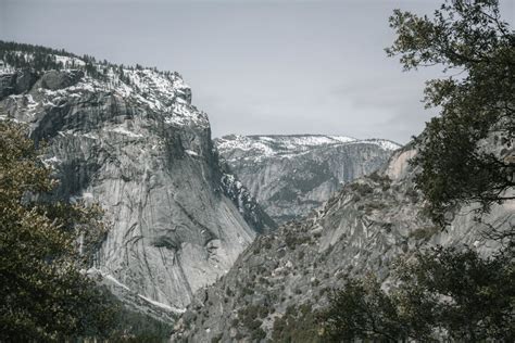
<path id="1" fill-rule="evenodd" d="M 454 72 L 427 82 L 426 106 L 441 112 L 416 139 L 413 161 L 432 218 L 444 225 L 456 206 L 477 203 L 488 213 L 515 199 L 515 34 L 498 1 L 448 1 L 432 20 L 395 10 L 390 26 L 397 39 L 387 52 L 405 69 Z"/>

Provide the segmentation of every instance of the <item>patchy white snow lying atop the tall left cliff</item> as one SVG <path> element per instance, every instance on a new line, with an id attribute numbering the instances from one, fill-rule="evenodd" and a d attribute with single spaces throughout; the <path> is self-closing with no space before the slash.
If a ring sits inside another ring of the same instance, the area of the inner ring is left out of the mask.
<path id="1" fill-rule="evenodd" d="M 68 61 L 72 58 L 55 56 L 58 62 Z M 61 59 L 62 58 L 62 59 Z M 67 60 L 66 60 L 67 59 Z M 63 63 L 66 66 L 84 65 L 85 62 L 73 58 L 73 61 L 80 61 L 83 64 L 75 62 Z M 76 68 L 62 68 L 61 71 L 53 71 L 54 78 L 62 75 L 79 75 L 77 81 L 66 85 L 58 89 L 40 88 L 38 96 L 42 97 L 41 103 L 48 106 L 59 106 L 61 101 L 67 98 L 81 97 L 87 93 L 108 92 L 116 94 L 123 99 L 131 102 L 149 106 L 151 110 L 161 113 L 164 116 L 165 123 L 175 126 L 185 125 L 200 125 L 202 127 L 209 126 L 209 119 L 204 112 L 198 111 L 191 105 L 191 89 L 184 81 L 178 73 L 162 73 L 153 68 L 122 68 L 114 65 L 103 66 L 95 64 L 97 69 L 105 69 L 101 78 L 92 77 L 88 73 Z M 13 68 L 8 64 L 0 65 L 0 71 L 4 73 L 12 73 Z M 11 94 L 12 100 L 21 103 L 32 103 L 33 94 Z M 23 111 L 30 116 L 42 111 L 40 106 L 32 106 Z"/>

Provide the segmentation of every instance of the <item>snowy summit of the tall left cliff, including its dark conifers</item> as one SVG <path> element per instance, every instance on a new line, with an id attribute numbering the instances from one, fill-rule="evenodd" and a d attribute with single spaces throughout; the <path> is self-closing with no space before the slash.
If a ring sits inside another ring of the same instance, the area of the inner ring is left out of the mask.
<path id="1" fill-rule="evenodd" d="M 16 91 L 17 84 L 24 81 L 27 85 L 22 86 L 28 89 L 38 78 L 40 87 L 36 91 Z M 0 98 L 10 96 L 22 106 L 20 112 L 32 117 L 42 107 L 23 109 L 24 104 L 59 106 L 64 99 L 105 93 L 159 113 L 168 125 L 209 126 L 205 113 L 191 105 L 191 89 L 176 72 L 117 65 L 86 55 L 0 41 Z"/>

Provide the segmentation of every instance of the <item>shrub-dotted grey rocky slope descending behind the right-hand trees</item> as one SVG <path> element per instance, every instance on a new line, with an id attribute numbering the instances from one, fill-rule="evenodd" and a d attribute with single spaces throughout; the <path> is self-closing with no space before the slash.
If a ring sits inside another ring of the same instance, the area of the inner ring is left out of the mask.
<path id="1" fill-rule="evenodd" d="M 298 321 L 324 306 L 327 290 L 339 288 L 342 278 L 370 270 L 388 287 L 392 263 L 402 254 L 436 244 L 467 244 L 485 254 L 499 249 L 479 239 L 486 227 L 474 221 L 473 205 L 456 212 L 447 231 L 425 217 L 407 163 L 415 154 L 410 147 L 397 151 L 378 173 L 344 186 L 305 220 L 258 238 L 223 279 L 199 291 L 173 340 L 272 339 L 274 327 L 281 329 L 279 318 Z M 483 220 L 513 226 L 515 202 L 493 207 Z"/>

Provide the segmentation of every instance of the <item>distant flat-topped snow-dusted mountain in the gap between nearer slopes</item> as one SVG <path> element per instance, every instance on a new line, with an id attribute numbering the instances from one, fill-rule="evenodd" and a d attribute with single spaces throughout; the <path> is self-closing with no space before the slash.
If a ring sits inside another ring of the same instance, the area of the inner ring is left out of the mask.
<path id="1" fill-rule="evenodd" d="M 222 158 L 278 224 L 305 217 L 342 183 L 379 168 L 400 145 L 341 136 L 225 136 Z"/>

